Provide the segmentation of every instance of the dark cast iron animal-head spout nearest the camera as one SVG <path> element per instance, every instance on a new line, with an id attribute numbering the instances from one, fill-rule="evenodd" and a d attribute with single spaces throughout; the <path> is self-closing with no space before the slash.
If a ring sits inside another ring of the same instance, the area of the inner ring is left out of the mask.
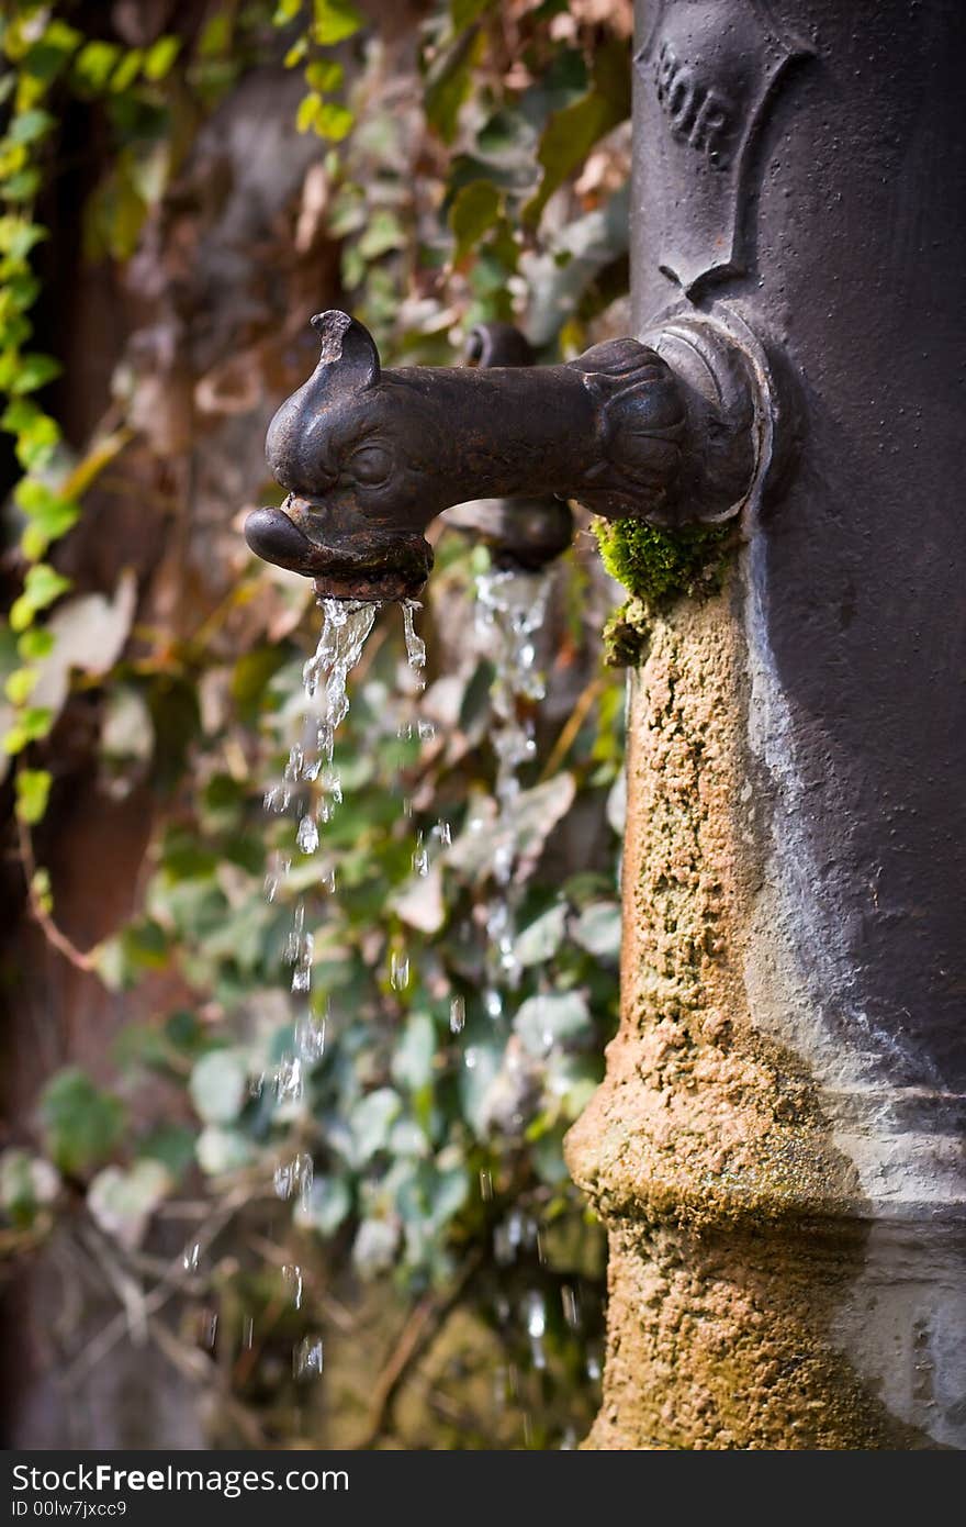
<path id="1" fill-rule="evenodd" d="M 705 454 L 696 429 L 711 434 L 708 388 L 696 391 L 636 339 L 557 366 L 383 371 L 356 319 L 328 312 L 311 322 L 319 363 L 266 441 L 288 496 L 249 515 L 246 539 L 267 562 L 314 577 L 319 594 L 418 594 L 432 567 L 426 527 L 469 499 L 552 493 L 607 519 L 662 525 L 736 512 L 736 484 L 694 470 Z M 742 460 L 739 476 L 748 470 Z"/>

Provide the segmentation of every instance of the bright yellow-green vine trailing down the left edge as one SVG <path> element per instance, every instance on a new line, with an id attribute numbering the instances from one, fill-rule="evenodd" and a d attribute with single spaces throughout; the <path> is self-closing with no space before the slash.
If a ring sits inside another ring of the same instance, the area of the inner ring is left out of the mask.
<path id="1" fill-rule="evenodd" d="M 102 99 L 124 127 L 130 127 L 133 110 L 153 108 L 163 130 L 166 116 L 160 110 L 159 87 L 179 50 L 177 37 L 160 37 L 148 49 L 128 50 L 85 38 L 56 15 L 56 6 L 41 6 L 35 0 L 14 0 L 0 20 L 0 56 L 9 70 L 6 81 L 12 95 L 6 130 L 0 136 L 0 428 L 12 435 L 14 454 L 24 472 L 14 489 L 14 501 L 23 515 L 20 554 L 26 565 L 23 594 L 14 602 L 8 621 L 21 637 L 27 664 L 49 655 L 43 643 L 31 646 L 31 637 L 43 635 L 35 626 L 37 617 L 70 589 L 70 580 L 43 559 L 76 524 L 79 492 L 105 460 L 95 449 L 89 464 L 81 463 L 72 473 L 63 470 L 60 425 L 35 397 L 61 374 L 53 356 L 29 348 L 31 315 L 40 293 L 32 253 L 47 237 L 47 229 L 37 221 L 35 202 L 58 125 L 56 113 L 44 102 L 53 92 Z M 133 252 L 148 202 L 163 189 L 163 180 L 157 180 L 153 191 L 147 189 L 143 165 L 143 140 L 122 147 L 110 185 L 99 192 L 102 221 L 104 197 L 110 200 L 104 246 L 118 258 Z M 47 709 L 29 704 L 37 678 L 38 670 L 27 666 L 8 681 L 12 715 L 0 739 L 8 756 L 41 741 L 55 719 Z M 44 771 L 20 774 L 18 815 L 27 826 L 43 817 L 46 777 Z"/>

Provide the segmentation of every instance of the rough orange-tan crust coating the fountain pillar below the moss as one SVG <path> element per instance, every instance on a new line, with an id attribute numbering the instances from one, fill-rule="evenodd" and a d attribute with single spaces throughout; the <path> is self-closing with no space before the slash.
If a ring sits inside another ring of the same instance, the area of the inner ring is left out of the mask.
<path id="1" fill-rule="evenodd" d="M 867 1205 L 801 1057 L 749 1012 L 746 686 L 733 591 L 655 614 L 630 684 L 621 1028 L 566 1148 L 610 1237 L 588 1446 L 931 1446 L 839 1345 Z"/>

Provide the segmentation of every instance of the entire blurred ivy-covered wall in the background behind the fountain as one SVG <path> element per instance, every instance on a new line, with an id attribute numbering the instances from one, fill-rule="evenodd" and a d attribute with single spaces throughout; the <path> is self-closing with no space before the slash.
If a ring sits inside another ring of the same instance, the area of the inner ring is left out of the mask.
<path id="1" fill-rule="evenodd" d="M 499 1020 L 487 554 L 438 539 L 424 692 L 380 615 L 343 805 L 287 890 L 327 1022 L 298 1092 L 291 906 L 264 895 L 293 825 L 262 793 L 319 612 L 240 524 L 278 493 L 264 431 L 313 312 L 386 363 L 458 363 L 481 319 L 542 359 L 623 331 L 630 5 L 18 0 L 0 26 L 8 1440 L 572 1446 L 603 1252 L 560 1141 L 617 1011 L 615 586 L 581 524 L 519 707 Z"/>

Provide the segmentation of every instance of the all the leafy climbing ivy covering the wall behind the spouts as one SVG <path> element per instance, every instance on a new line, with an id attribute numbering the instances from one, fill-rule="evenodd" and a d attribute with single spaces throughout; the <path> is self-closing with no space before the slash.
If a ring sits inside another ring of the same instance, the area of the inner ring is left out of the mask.
<path id="1" fill-rule="evenodd" d="M 613 6 L 617 21 L 600 11 L 438 0 L 421 8 L 412 67 L 392 81 L 366 6 L 348 0 L 224 0 L 143 46 L 87 35 L 76 5 L 18 3 L 0 34 L 0 385 L 17 478 L 0 664 L 14 835 L 55 950 L 119 999 L 137 996 L 137 1017 L 96 1070 L 66 1048 L 31 1130 L 0 1157 L 3 1235 L 24 1257 L 81 1215 L 118 1275 L 143 1278 L 156 1217 L 211 1193 L 211 1225 L 195 1232 L 186 1222 L 185 1263 L 151 1292 L 165 1309 L 185 1301 L 209 1322 L 214 1312 L 218 1342 L 238 1348 L 226 1380 L 233 1435 L 299 1440 L 285 1383 L 269 1397 L 259 1373 L 279 1353 L 288 1364 L 322 1321 L 339 1269 L 391 1283 L 411 1310 L 366 1419 L 369 1445 L 394 1434 L 411 1364 L 456 1307 L 496 1341 L 510 1417 L 528 1417 L 525 1445 L 557 1445 L 589 1419 L 601 1240 L 571 1190 L 562 1141 L 615 1023 L 621 686 L 588 655 L 588 606 L 597 597 L 603 612 L 609 596 L 594 594 L 574 554 L 557 573 L 545 649 L 551 719 L 523 779 L 522 977 L 494 1025 L 479 996 L 491 866 L 475 826 L 493 803 L 493 669 L 485 652 L 446 644 L 453 609 L 472 618 L 485 559 L 441 542 L 424 617 L 430 654 L 435 643 L 444 652 L 436 683 L 414 710 L 386 617 L 356 676 L 337 760 L 346 800 L 325 849 L 339 895 L 316 895 L 314 863 L 293 876 L 316 931 L 313 1015 L 327 1041 L 301 1096 L 279 1089 L 273 1078 L 295 1048 L 279 999 L 291 909 L 266 901 L 264 878 L 290 825 L 269 825 L 261 796 L 284 765 L 314 611 L 307 589 L 247 565 L 172 637 L 134 623 L 147 579 L 134 591 L 121 570 L 116 586 L 90 591 L 63 570 L 64 545 L 87 530 L 85 499 L 122 481 L 145 428 L 119 386 L 95 438 L 72 455 L 56 408 L 44 406 L 60 368 L 32 325 L 44 304 L 44 197 L 66 153 L 60 122 L 79 104 L 107 134 L 84 209 L 87 257 L 130 269 L 165 217 L 186 217 L 185 169 L 212 111 L 259 69 L 298 76 L 291 119 L 316 153 L 305 160 L 314 189 L 285 237 L 304 238 L 313 258 L 325 241 L 337 249 L 331 299 L 360 313 L 385 356 L 452 362 L 472 324 L 497 318 L 526 322 L 546 357 L 572 354 L 626 290 L 630 8 Z M 244 344 L 261 342 L 246 331 Z M 586 544 L 581 531 L 578 551 Z M 58 640 L 72 643 L 60 666 Z M 157 808 L 136 913 L 79 950 L 60 928 L 58 887 L 34 863 L 34 838 L 43 851 L 47 829 L 67 820 L 53 728 L 82 705 L 96 715 L 85 764 L 102 788 L 124 797 L 147 786 Z M 449 846 L 433 838 L 443 818 Z M 568 823 L 584 844 L 569 858 L 555 849 Z M 414 875 L 420 838 L 432 844 L 429 889 Z M 403 964 L 407 979 L 394 980 Z M 464 1014 L 456 1031 L 453 1002 Z M 105 1072 L 110 1083 L 95 1080 Z M 157 1089 L 162 1107 L 151 1110 L 143 1096 Z M 276 1170 L 307 1156 L 311 1183 L 279 1197 Z M 288 1275 L 270 1245 L 305 1275 L 301 1310 L 279 1299 Z M 252 1321 L 261 1368 L 243 1351 Z M 177 1330 L 171 1321 L 159 1339 L 174 1342 Z M 478 1411 L 438 1425 L 459 1446 L 520 1441 L 505 1417 Z"/>

